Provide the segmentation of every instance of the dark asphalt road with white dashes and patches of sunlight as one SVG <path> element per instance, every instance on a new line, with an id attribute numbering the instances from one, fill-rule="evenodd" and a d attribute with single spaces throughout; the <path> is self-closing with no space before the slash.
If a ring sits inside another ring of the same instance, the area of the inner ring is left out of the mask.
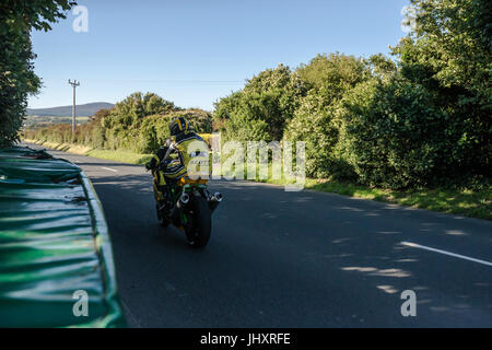
<path id="1" fill-rule="evenodd" d="M 103 202 L 131 326 L 492 327 L 490 221 L 216 180 L 225 199 L 195 250 L 160 228 L 143 166 L 51 153 Z M 405 290 L 414 317 L 401 315 Z"/>

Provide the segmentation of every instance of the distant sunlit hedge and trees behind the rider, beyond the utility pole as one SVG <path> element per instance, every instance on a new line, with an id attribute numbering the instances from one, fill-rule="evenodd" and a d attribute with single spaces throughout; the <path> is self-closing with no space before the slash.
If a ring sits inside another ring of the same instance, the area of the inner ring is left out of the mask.
<path id="1" fill-rule="evenodd" d="M 155 94 L 134 93 L 113 109 L 97 112 L 90 122 L 78 126 L 74 135 L 71 125 L 59 124 L 25 130 L 24 137 L 102 150 L 153 153 L 169 137 L 169 121 L 179 116 L 186 117 L 199 132 L 212 131 L 212 117 L 204 110 L 181 109 Z"/>

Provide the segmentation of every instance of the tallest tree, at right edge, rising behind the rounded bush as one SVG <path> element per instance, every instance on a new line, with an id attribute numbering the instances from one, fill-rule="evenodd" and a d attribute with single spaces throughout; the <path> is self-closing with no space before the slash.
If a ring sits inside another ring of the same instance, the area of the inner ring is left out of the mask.
<path id="1" fill-rule="evenodd" d="M 457 174 L 490 174 L 492 158 L 492 4 L 485 0 L 412 0 L 415 30 L 393 52 L 401 73 L 446 110 L 459 140 Z"/>

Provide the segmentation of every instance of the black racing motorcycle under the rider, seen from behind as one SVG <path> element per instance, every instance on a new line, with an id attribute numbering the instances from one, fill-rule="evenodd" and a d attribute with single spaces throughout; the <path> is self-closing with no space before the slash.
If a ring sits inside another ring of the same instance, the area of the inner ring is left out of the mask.
<path id="1" fill-rule="evenodd" d="M 171 200 L 165 206 L 157 205 L 161 226 L 172 224 L 185 232 L 192 247 L 204 247 L 210 240 L 212 213 L 222 201 L 222 194 L 209 192 L 208 179 L 184 176 L 174 182 L 166 178 L 166 182 Z"/>

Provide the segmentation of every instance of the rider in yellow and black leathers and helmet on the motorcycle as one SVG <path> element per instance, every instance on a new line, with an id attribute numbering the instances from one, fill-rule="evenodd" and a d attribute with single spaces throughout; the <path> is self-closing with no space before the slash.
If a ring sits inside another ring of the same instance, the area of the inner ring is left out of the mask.
<path id="1" fill-rule="evenodd" d="M 180 179 L 188 173 L 188 165 L 195 155 L 203 155 L 200 152 L 188 152 L 191 142 L 203 142 L 201 149 L 208 150 L 207 142 L 198 136 L 184 117 L 175 118 L 169 124 L 171 139 L 160 148 L 153 159 L 145 164 L 154 175 L 154 197 L 161 207 L 166 205 L 169 194 L 169 185 Z M 194 149 L 196 143 L 194 144 Z M 173 158 L 173 153 L 176 154 Z M 208 155 L 206 155 L 208 158 Z M 172 205 L 172 203 L 169 203 Z"/>

